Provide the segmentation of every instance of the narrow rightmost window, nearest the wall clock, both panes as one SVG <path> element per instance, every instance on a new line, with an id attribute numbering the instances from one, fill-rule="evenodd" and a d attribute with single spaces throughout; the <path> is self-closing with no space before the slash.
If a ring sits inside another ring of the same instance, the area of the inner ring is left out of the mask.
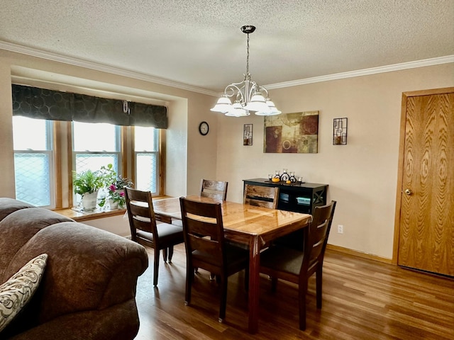
<path id="1" fill-rule="evenodd" d="M 159 133 L 155 128 L 134 128 L 135 188 L 159 193 Z"/>

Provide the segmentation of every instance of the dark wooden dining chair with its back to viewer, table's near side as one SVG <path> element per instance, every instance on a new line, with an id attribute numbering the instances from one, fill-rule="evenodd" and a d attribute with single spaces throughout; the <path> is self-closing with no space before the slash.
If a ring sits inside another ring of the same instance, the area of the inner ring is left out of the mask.
<path id="1" fill-rule="evenodd" d="M 224 242 L 221 203 L 195 202 L 179 198 L 182 209 L 184 244 L 186 245 L 185 305 L 191 303 L 194 268 L 203 268 L 216 275 L 221 287 L 219 322 L 226 318 L 228 276 L 243 269 L 245 284 L 249 281 L 249 251 Z"/>

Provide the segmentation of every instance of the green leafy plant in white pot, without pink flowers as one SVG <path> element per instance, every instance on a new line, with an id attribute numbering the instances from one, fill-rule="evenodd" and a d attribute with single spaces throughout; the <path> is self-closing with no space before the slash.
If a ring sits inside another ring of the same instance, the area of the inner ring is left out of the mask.
<path id="1" fill-rule="evenodd" d="M 84 210 L 94 210 L 98 191 L 104 187 L 104 177 L 101 171 L 86 170 L 77 174 L 73 172 L 74 193 L 82 196 L 82 208 Z"/>

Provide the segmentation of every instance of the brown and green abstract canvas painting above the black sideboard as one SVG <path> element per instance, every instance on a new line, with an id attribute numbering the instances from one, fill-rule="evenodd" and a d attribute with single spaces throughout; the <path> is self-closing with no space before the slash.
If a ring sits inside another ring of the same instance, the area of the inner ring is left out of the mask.
<path id="1" fill-rule="evenodd" d="M 279 117 L 265 117 L 263 152 L 302 153 L 319 152 L 319 111 L 287 113 Z"/>

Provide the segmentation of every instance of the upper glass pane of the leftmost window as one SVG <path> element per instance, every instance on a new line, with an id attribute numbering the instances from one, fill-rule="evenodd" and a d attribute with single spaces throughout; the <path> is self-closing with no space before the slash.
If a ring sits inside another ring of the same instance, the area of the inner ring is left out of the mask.
<path id="1" fill-rule="evenodd" d="M 43 119 L 33 119 L 13 116 L 13 147 L 15 150 L 48 150 L 48 122 Z"/>

